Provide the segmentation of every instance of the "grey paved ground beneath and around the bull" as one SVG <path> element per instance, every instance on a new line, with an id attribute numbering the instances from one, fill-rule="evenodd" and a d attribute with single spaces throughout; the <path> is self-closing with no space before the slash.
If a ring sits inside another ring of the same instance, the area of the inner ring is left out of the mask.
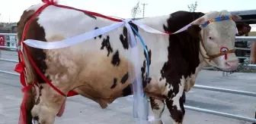
<path id="1" fill-rule="evenodd" d="M 17 56 L 3 55 L 3 53 L 14 54 L 13 52 L 2 52 L 2 58 L 17 60 Z M 0 60 L 0 64 L 0 70 L 14 72 L 14 63 Z M 256 92 L 256 74 L 233 73 L 231 76 L 223 77 L 221 72 L 203 70 L 196 84 Z M 17 124 L 22 97 L 18 76 L 0 73 L 0 94 L 0 124 Z M 187 93 L 186 105 L 253 118 L 256 98 L 193 88 Z M 132 108 L 132 102 L 128 97 L 119 98 L 107 109 L 102 110 L 94 101 L 75 96 L 68 98 L 66 111 L 62 117 L 56 118 L 56 124 L 133 124 L 135 122 Z M 167 109 L 162 119 L 165 124 L 171 123 Z M 184 124 L 251 124 L 251 122 L 186 110 Z"/>

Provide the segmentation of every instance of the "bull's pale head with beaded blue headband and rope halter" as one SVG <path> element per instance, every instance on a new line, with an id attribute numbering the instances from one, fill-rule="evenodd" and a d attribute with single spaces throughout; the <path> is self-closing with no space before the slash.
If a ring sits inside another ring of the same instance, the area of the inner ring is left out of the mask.
<path id="1" fill-rule="evenodd" d="M 190 26 L 190 33 L 200 32 L 200 54 L 207 64 L 223 71 L 233 71 L 238 67 L 238 57 L 235 56 L 235 36 L 237 33 L 234 20 L 242 17 L 232 15 L 228 11 L 213 11 L 198 18 Z M 195 29 L 197 29 L 195 31 Z M 238 26 L 239 36 L 250 32 L 248 25 Z M 213 63 L 210 63 L 213 61 Z"/>

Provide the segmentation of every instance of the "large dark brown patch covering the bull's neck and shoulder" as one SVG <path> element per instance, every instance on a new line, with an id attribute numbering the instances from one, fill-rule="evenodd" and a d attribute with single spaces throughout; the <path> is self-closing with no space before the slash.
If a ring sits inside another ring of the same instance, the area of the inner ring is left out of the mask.
<path id="1" fill-rule="evenodd" d="M 163 29 L 166 32 L 174 33 L 202 15 L 188 11 L 174 12 L 167 20 L 168 24 L 163 25 Z M 187 31 L 171 35 L 168 40 L 170 43 L 168 46 L 168 60 L 162 67 L 162 77 L 159 82 L 164 80 L 171 85 L 172 89 L 168 92 L 168 97 L 172 98 L 173 95 L 181 92 L 179 88 L 182 83 L 184 83 L 183 86 L 188 85 L 188 87 L 194 85 L 198 73 L 197 68 L 200 65 L 200 40 L 190 36 Z"/>

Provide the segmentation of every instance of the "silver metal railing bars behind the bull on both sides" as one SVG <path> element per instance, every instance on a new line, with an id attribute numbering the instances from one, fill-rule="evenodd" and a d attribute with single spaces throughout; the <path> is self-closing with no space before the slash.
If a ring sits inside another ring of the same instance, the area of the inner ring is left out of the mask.
<path id="1" fill-rule="evenodd" d="M 236 37 L 236 39 L 238 40 L 247 40 L 245 38 L 240 38 L 240 37 Z M 249 37 L 249 40 L 256 41 L 256 37 Z M 17 48 L 10 48 L 10 47 L 6 47 L 6 46 L 0 46 L 0 48 L 5 48 L 5 50 L 7 51 L 11 51 L 11 49 L 14 49 L 14 51 L 17 51 Z M 0 50 L 0 54 L 1 54 L 1 50 Z M 4 60 L 7 62 L 14 62 L 17 63 L 18 60 L 8 60 L 5 58 L 0 58 L 0 60 Z M 252 66 L 252 65 L 251 65 Z M 256 66 L 256 65 L 253 65 Z M 11 73 L 5 70 L 0 70 L 0 73 L 6 73 L 6 74 L 11 74 L 14 76 L 19 76 L 18 73 Z M 251 97 L 256 97 L 256 93 L 254 92 L 249 92 L 249 91 L 237 91 L 237 90 L 232 90 L 232 89 L 226 89 L 226 88 L 215 88 L 215 87 L 210 87 L 210 86 L 206 86 L 206 85 L 194 85 L 194 88 L 199 88 L 199 89 L 203 89 L 203 90 L 210 90 L 210 91 L 221 91 L 221 92 L 226 92 L 226 93 L 231 93 L 231 94 L 236 94 L 236 95 L 247 95 L 247 96 L 251 96 Z M 199 108 L 199 107 L 190 107 L 190 106 L 184 106 L 185 109 L 187 110 L 195 110 L 198 112 L 202 112 L 202 113 L 210 113 L 216 116 L 225 116 L 228 118 L 232 118 L 232 119 L 238 119 L 238 120 L 243 120 L 246 122 L 254 122 L 256 123 L 256 119 L 253 118 L 248 118 L 245 116 L 238 116 L 238 115 L 234 115 L 234 114 L 230 114 L 230 113 L 222 113 L 222 112 L 218 112 L 218 111 L 214 111 L 214 110 L 206 110 L 203 108 Z"/>

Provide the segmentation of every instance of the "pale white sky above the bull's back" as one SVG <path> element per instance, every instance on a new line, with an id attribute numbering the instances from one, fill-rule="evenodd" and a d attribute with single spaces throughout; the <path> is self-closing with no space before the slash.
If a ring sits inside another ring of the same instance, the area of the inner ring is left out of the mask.
<path id="1" fill-rule="evenodd" d="M 188 11 L 187 5 L 196 0 L 139 0 L 146 3 L 145 17 Z M 1 0 L 0 22 L 17 22 L 24 10 L 41 0 Z M 59 0 L 60 5 L 94 11 L 114 17 L 130 18 L 130 11 L 138 0 Z M 242 11 L 255 9 L 256 0 L 197 0 L 197 11 Z M 142 8 L 142 5 L 140 6 Z M 142 17 L 138 15 L 138 17 Z"/>

